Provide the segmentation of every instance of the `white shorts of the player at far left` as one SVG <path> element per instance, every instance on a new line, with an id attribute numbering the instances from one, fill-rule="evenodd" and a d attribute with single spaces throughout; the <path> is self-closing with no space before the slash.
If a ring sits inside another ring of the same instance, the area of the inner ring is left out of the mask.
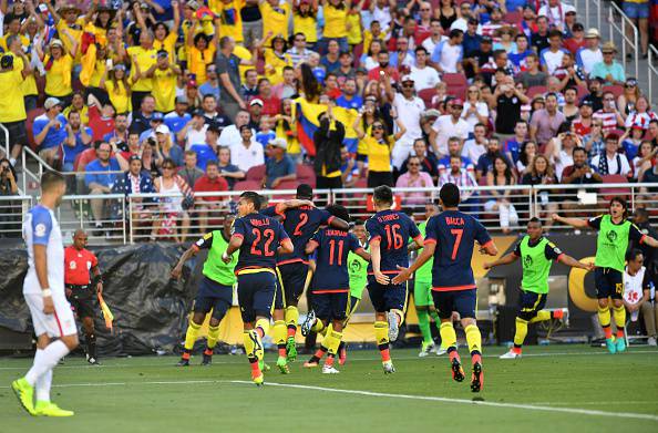
<path id="1" fill-rule="evenodd" d="M 54 295 L 52 301 L 55 311 L 53 315 L 47 315 L 43 312 L 43 297 L 40 293 L 23 293 L 23 296 L 30 307 L 37 337 L 44 333 L 51 338 L 78 334 L 75 318 L 65 297 Z"/>

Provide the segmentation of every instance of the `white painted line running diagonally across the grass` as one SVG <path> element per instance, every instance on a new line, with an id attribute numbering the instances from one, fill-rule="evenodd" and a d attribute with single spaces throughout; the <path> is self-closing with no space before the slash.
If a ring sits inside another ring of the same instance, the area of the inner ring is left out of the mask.
<path id="1" fill-rule="evenodd" d="M 229 381 L 229 382 L 254 385 L 254 383 L 250 381 L 234 380 L 234 381 Z M 294 383 L 265 382 L 265 385 L 266 386 L 292 388 L 292 389 L 310 390 L 310 391 L 335 392 L 335 393 L 340 393 L 340 394 L 353 394 L 353 395 L 366 395 L 366 396 L 389 398 L 389 399 L 422 400 L 422 401 L 433 401 L 433 402 L 455 403 L 455 404 L 475 404 L 475 405 L 492 406 L 492 408 L 523 409 L 523 410 L 528 410 L 528 411 L 558 412 L 558 413 L 569 413 L 569 414 L 577 414 L 577 415 L 609 416 L 609 417 L 623 417 L 623 419 L 647 420 L 647 421 L 658 422 L 657 415 L 645 414 L 645 413 L 606 412 L 606 411 L 597 411 L 597 410 L 589 410 L 589 409 L 555 408 L 555 406 L 542 406 L 542 405 L 534 405 L 534 404 L 497 403 L 497 402 L 489 402 L 489 401 L 473 401 L 473 400 L 465 400 L 465 399 L 450 399 L 450 398 L 445 398 L 445 396 L 392 394 L 392 393 L 385 393 L 385 392 L 342 390 L 342 389 L 337 389 L 337 388 L 299 385 L 299 384 L 294 384 Z"/>

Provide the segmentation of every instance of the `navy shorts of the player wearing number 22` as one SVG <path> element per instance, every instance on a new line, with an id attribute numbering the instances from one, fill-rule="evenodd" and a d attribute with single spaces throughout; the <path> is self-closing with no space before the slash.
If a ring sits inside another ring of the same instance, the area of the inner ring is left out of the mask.
<path id="1" fill-rule="evenodd" d="M 248 323 L 256 317 L 269 319 L 277 290 L 277 277 L 268 271 L 238 275 L 238 303 L 243 322 Z"/>

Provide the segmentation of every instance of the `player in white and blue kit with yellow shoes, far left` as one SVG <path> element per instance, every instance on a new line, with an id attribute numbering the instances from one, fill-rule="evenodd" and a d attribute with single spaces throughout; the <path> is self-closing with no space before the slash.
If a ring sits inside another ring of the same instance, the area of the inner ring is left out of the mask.
<path id="1" fill-rule="evenodd" d="M 41 176 L 41 200 L 23 221 L 28 247 L 28 274 L 23 296 L 30 309 L 37 353 L 28 373 L 11 383 L 19 402 L 31 415 L 72 416 L 50 401 L 52 370 L 78 347 L 78 329 L 64 292 L 64 246 L 53 210 L 66 192 L 64 177 L 55 172 Z M 51 341 L 51 338 L 58 340 Z M 37 389 L 37 403 L 34 403 Z"/>

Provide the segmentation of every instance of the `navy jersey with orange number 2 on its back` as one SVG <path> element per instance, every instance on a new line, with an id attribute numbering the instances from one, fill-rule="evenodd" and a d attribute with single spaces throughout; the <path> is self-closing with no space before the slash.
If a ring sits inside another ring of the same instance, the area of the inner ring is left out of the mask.
<path id="1" fill-rule="evenodd" d="M 290 240 L 292 240 L 294 251 L 277 257 L 277 265 L 286 265 L 295 261 L 308 262 L 305 254 L 306 244 L 318 231 L 320 226 L 328 225 L 333 219 L 333 216 L 329 212 L 309 206 L 301 206 L 285 212 L 280 212 L 277 206 L 270 206 L 260 213 L 270 217 L 280 216 L 281 224 L 290 235 Z"/>

